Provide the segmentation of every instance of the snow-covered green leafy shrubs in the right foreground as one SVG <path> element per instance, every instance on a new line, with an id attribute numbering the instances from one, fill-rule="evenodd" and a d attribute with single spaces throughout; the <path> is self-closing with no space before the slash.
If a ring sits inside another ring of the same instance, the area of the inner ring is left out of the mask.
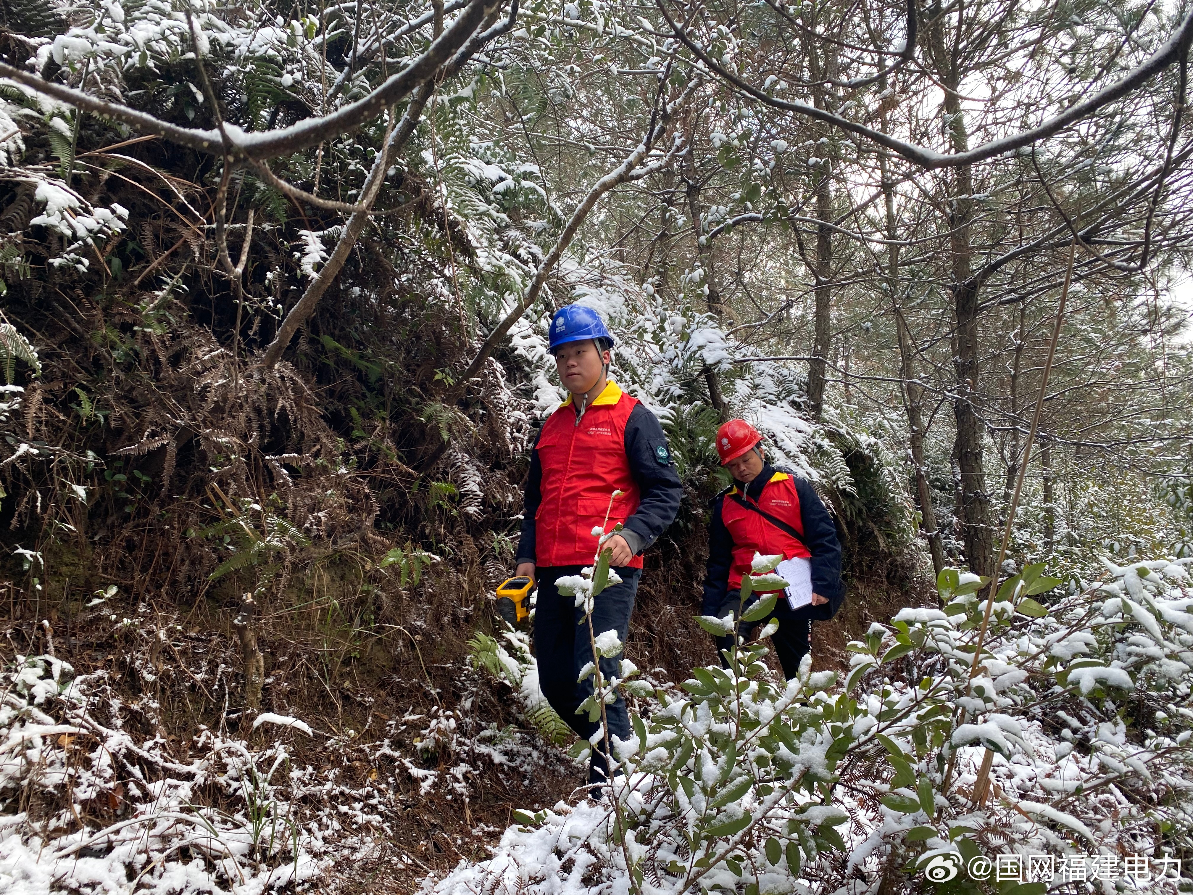
<path id="1" fill-rule="evenodd" d="M 492 859 L 427 888 L 833 891 L 931 869 L 938 891 L 1131 876 L 1174 893 L 1193 844 L 1187 562 L 1106 567 L 1051 601 L 1058 580 L 1026 568 L 989 607 L 987 581 L 946 569 L 944 609 L 851 643 L 843 685 L 808 665 L 775 680 L 743 643 L 655 689 L 614 745 L 610 804 L 523 813 Z"/>

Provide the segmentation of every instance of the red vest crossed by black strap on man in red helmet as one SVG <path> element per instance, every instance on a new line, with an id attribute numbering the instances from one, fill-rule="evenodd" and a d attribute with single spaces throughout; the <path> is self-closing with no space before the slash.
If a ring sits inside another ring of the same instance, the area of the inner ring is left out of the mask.
<path id="1" fill-rule="evenodd" d="M 764 556 L 783 554 L 784 560 L 790 560 L 793 556 L 802 556 L 805 560 L 811 557 L 806 544 L 791 537 L 760 513 L 743 507 L 734 498 L 754 502 L 742 494 L 737 486 L 730 488 L 721 501 L 721 520 L 729 529 L 729 536 L 734 539 L 734 564 L 729 568 L 730 591 L 742 586 L 742 575 L 749 574 L 753 568 L 755 553 Z M 804 533 L 796 480 L 786 473 L 775 473 L 771 476 L 771 481 L 762 486 L 758 506 L 777 519 L 781 519 L 801 535 Z"/>

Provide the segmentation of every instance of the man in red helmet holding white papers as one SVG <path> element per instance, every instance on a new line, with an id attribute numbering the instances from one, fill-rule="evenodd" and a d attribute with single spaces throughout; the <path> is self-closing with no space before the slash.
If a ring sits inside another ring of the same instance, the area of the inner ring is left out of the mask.
<path id="1" fill-rule="evenodd" d="M 845 601 L 836 526 L 811 484 L 767 463 L 762 436 L 746 420 L 729 420 L 717 431 L 717 453 L 734 483 L 712 501 L 700 611 L 718 618 L 737 612 L 742 575 L 749 574 L 755 553 L 806 560 L 811 605 L 793 610 L 779 594 L 771 616 L 779 622 L 771 642 L 790 679 L 811 648 L 811 622 L 833 618 Z M 733 643 L 731 636 L 718 637 L 718 653 Z"/>

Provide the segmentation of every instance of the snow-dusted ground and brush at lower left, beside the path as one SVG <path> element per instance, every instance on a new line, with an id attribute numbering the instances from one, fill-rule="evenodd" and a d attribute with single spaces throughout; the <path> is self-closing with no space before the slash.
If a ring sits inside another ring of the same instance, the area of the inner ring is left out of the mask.
<path id="1" fill-rule="evenodd" d="M 140 660 L 152 683 L 160 667 Z M 558 761 L 524 730 L 458 720 L 466 698 L 387 721 L 372 740 L 261 712 L 248 739 L 200 727 L 179 742 L 156 702 L 118 683 L 48 655 L 0 669 L 0 893 L 264 895 L 326 889 L 378 860 L 413 879 L 426 865 L 395 845 L 412 790 L 468 802 L 482 772 L 525 782 Z M 324 766 L 298 758 L 311 747 Z"/>

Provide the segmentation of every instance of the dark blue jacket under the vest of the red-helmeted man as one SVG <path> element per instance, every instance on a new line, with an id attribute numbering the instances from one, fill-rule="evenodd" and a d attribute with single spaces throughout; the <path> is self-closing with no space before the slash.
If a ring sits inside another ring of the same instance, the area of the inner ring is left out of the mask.
<path id="1" fill-rule="evenodd" d="M 737 482 L 737 487 L 746 492 L 747 498 L 756 501 L 774 471 L 774 467 L 767 463 L 754 481 L 749 484 Z M 792 611 L 787 601 L 780 597 L 775 603 L 774 616 L 779 619 L 796 618 L 797 613 L 802 618 L 832 618 L 845 601 L 845 584 L 841 581 L 841 542 L 836 537 L 836 525 L 833 524 L 833 517 L 828 514 L 820 495 L 808 481 L 796 476 L 790 469 L 780 471 L 791 474 L 795 480 L 796 493 L 799 495 L 799 518 L 804 530 L 803 542 L 812 555 L 810 560 L 812 590 L 827 598 L 828 605 Z M 704 576 L 704 598 L 700 601 L 700 612 L 705 616 L 723 615 L 721 607 L 729 598 L 729 568 L 733 566 L 734 541 L 721 519 L 721 506 L 728 492 L 729 488 L 725 488 L 712 500 L 709 562 Z M 736 591 L 734 593 L 736 594 Z"/>

